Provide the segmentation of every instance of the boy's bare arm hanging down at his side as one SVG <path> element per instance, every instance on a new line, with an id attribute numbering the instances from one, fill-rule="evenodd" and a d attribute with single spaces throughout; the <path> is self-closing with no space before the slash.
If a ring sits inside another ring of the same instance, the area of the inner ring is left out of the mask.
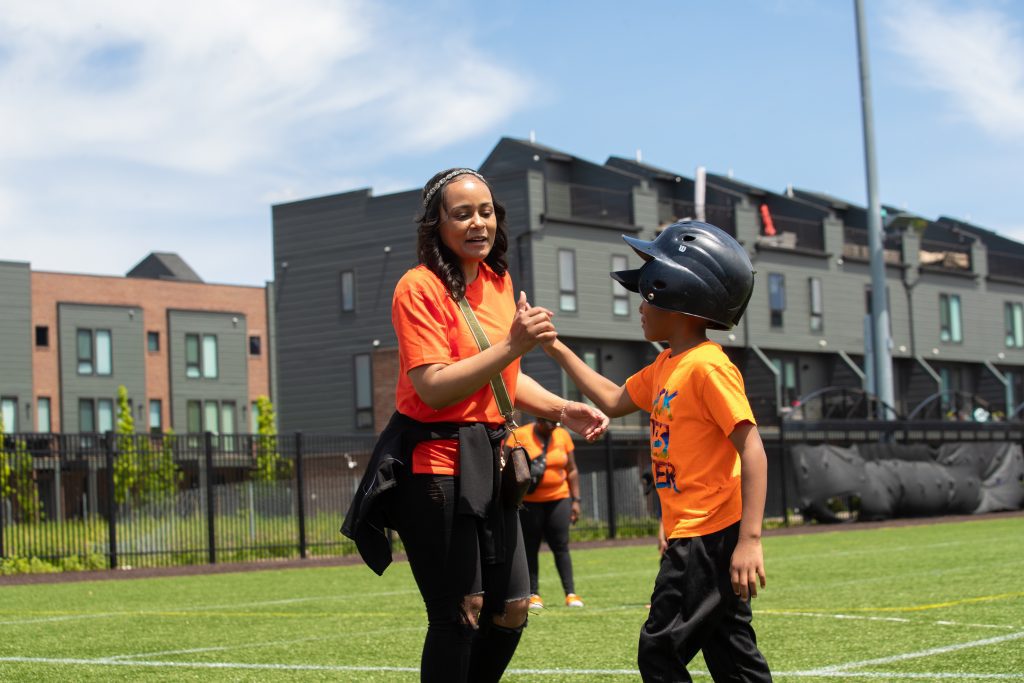
<path id="1" fill-rule="evenodd" d="M 757 597 L 758 584 L 765 587 L 765 561 L 761 550 L 761 524 L 764 521 L 768 490 L 768 457 L 758 428 L 750 422 L 736 425 L 729 435 L 739 454 L 740 489 L 743 516 L 739 520 L 739 540 L 732 552 L 729 575 L 732 590 L 741 599 Z"/>

